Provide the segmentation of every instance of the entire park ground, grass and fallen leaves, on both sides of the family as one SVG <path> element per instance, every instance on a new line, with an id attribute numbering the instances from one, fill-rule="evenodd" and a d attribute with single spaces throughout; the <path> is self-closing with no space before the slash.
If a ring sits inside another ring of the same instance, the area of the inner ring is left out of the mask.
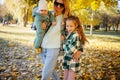
<path id="1" fill-rule="evenodd" d="M 34 37 L 35 31 L 29 27 L 0 26 L 0 80 L 41 78 L 43 65 L 33 49 Z M 95 32 L 87 38 L 89 43 L 81 54 L 81 72 L 76 79 L 119 80 L 120 32 Z"/>

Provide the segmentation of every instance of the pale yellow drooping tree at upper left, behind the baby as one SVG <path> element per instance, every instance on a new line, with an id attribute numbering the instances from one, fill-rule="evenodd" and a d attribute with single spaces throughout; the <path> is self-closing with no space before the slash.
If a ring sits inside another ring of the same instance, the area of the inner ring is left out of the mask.
<path id="1" fill-rule="evenodd" d="M 38 0 L 5 0 L 9 12 L 24 26 L 28 22 L 32 5 L 35 5 L 37 2 Z"/>

